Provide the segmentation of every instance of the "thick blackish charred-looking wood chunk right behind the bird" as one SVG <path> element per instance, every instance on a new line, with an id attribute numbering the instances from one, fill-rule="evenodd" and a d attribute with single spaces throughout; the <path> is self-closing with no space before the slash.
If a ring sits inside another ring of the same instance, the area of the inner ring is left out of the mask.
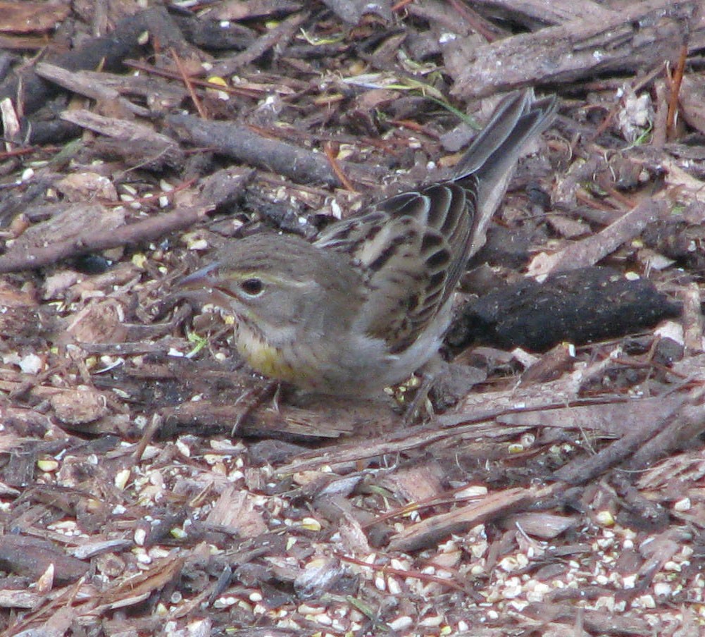
<path id="1" fill-rule="evenodd" d="M 629 281 L 609 268 L 558 272 L 539 284 L 525 279 L 466 303 L 446 336 L 458 350 L 470 344 L 546 351 L 653 327 L 680 314 L 646 279 Z"/>

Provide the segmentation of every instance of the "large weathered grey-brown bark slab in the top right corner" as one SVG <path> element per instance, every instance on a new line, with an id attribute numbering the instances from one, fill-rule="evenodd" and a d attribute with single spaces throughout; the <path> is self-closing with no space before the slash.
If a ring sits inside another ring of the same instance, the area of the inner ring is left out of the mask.
<path id="1" fill-rule="evenodd" d="M 673 59 L 686 37 L 697 44 L 705 24 L 697 0 L 637 1 L 611 19 L 580 18 L 470 50 L 446 44 L 446 68 L 460 99 L 534 84 L 574 82 L 598 73 L 648 68 Z"/>

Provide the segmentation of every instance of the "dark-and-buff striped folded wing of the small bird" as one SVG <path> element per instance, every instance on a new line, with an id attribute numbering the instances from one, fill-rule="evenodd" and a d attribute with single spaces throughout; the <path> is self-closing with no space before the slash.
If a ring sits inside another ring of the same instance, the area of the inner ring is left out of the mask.
<path id="1" fill-rule="evenodd" d="M 390 353 L 410 346 L 453 293 L 474 203 L 467 184 L 439 183 L 379 202 L 317 238 L 317 245 L 343 250 L 363 266 L 374 293 L 361 313 L 364 329 L 386 339 Z"/>

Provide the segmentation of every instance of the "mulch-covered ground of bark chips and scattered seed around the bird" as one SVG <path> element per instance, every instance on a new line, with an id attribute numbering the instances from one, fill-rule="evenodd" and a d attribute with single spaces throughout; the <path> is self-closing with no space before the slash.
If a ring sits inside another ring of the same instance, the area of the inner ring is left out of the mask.
<path id="1" fill-rule="evenodd" d="M 3 634 L 704 633 L 705 18 L 546 4 L 0 2 Z M 248 400 L 175 282 L 526 87 L 434 411 Z"/>

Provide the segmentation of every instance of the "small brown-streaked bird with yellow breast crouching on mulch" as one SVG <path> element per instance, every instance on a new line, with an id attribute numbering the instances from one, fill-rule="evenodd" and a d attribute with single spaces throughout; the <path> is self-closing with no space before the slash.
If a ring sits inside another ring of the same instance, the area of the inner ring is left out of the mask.
<path id="1" fill-rule="evenodd" d="M 234 317 L 250 367 L 314 394 L 373 396 L 437 356 L 453 292 L 555 96 L 513 92 L 449 176 L 384 198 L 312 240 L 232 241 L 178 283 Z"/>

